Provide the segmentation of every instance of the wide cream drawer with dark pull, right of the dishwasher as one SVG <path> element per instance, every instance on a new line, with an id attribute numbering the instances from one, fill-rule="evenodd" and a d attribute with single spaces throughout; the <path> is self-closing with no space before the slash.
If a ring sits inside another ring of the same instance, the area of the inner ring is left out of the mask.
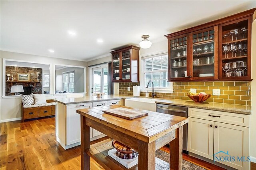
<path id="1" fill-rule="evenodd" d="M 212 120 L 239 126 L 249 127 L 250 115 L 220 112 L 215 110 L 204 110 L 198 108 L 188 108 L 188 117 Z"/>

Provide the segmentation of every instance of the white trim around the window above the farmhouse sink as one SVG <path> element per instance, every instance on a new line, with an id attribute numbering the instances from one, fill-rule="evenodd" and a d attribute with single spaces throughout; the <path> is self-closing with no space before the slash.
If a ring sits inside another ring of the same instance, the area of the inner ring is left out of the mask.
<path id="1" fill-rule="evenodd" d="M 154 53 L 154 54 L 148 54 L 148 55 L 140 55 L 140 91 L 141 92 L 151 92 L 151 88 L 144 88 L 144 59 L 146 58 L 153 58 L 157 56 L 162 56 L 162 55 L 168 55 L 168 52 L 159 52 L 159 53 Z M 168 69 L 167 69 L 168 70 Z M 154 91 L 162 92 L 162 93 L 173 93 L 173 83 L 170 83 L 170 88 L 154 88 Z"/>

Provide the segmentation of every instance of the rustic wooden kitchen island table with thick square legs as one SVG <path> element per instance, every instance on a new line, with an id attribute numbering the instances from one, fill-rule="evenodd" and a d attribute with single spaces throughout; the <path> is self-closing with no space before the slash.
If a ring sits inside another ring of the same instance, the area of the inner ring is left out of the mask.
<path id="1" fill-rule="evenodd" d="M 138 151 L 138 165 L 130 168 L 131 170 L 166 170 L 166 166 L 163 167 L 166 162 L 161 163 L 159 159 L 156 162 L 155 155 L 156 150 L 168 143 L 170 169 L 182 170 L 182 126 L 188 123 L 188 118 L 146 111 L 148 116 L 126 120 L 102 112 L 119 107 L 124 106 L 77 110 L 81 114 L 81 170 L 90 170 L 90 157 L 106 170 L 127 169 L 110 156 L 97 152 L 94 148 L 90 149 L 90 127 Z"/>

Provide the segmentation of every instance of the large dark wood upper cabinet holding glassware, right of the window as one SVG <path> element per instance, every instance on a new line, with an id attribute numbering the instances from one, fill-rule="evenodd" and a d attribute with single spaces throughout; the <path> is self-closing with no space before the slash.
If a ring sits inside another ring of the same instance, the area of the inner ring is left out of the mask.
<path id="1" fill-rule="evenodd" d="M 165 35 L 168 81 L 251 81 L 255 10 Z"/>

